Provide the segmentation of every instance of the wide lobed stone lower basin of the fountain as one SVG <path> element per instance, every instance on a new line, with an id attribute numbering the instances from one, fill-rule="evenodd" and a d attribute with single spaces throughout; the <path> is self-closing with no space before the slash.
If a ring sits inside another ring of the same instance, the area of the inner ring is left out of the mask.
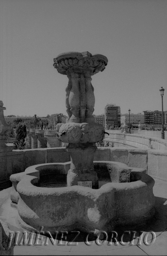
<path id="1" fill-rule="evenodd" d="M 146 170 L 118 162 L 95 161 L 100 188 L 92 189 L 65 187 L 69 168 L 70 162 L 38 164 L 11 176 L 12 206 L 18 208 L 22 228 L 35 232 L 41 227 L 51 232 L 109 232 L 116 225 L 144 224 L 154 216 L 154 179 Z"/>

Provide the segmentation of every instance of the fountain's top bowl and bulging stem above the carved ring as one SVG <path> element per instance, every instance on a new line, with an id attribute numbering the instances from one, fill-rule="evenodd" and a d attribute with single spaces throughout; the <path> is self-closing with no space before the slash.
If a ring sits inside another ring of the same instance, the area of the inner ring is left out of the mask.
<path id="1" fill-rule="evenodd" d="M 92 56 L 88 51 L 63 53 L 54 59 L 54 68 L 60 74 L 66 74 L 69 79 L 65 100 L 69 122 L 95 123 L 95 97 L 91 76 L 103 71 L 107 62 L 105 56 Z"/>

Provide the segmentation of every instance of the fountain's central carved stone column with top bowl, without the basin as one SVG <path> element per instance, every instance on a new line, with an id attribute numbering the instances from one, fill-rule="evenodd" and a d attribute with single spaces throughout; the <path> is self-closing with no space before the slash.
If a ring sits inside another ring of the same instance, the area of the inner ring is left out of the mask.
<path id="1" fill-rule="evenodd" d="M 104 138 L 104 127 L 96 124 L 93 117 L 95 97 L 91 76 L 103 71 L 107 65 L 103 55 L 86 52 L 68 52 L 54 59 L 54 67 L 67 75 L 66 108 L 69 123 L 57 125 L 57 138 L 69 143 L 66 151 L 71 156 L 71 168 L 67 175 L 67 186 L 87 182 L 91 188 L 99 188 L 93 159 L 96 142 Z"/>

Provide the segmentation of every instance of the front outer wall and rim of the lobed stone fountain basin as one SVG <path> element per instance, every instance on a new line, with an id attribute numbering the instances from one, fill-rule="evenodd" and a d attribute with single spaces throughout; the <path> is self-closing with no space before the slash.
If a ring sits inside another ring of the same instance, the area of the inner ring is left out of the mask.
<path id="1" fill-rule="evenodd" d="M 154 180 L 131 172 L 130 181 L 107 183 L 97 190 L 82 186 L 41 188 L 37 177 L 25 175 L 17 185 L 19 223 L 30 231 L 44 226 L 44 231 L 77 228 L 88 232 L 144 223 L 154 215 Z"/>

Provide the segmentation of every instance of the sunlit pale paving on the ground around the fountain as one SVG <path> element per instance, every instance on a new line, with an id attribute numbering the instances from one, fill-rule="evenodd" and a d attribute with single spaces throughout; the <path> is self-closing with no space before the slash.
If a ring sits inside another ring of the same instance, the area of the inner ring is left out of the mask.
<path id="1" fill-rule="evenodd" d="M 151 245 L 142 243 L 134 246 L 123 246 L 121 244 L 115 246 L 114 244 L 108 245 L 109 242 L 105 241 L 102 246 L 98 246 L 95 242 L 88 246 L 84 242 L 85 233 L 83 233 L 78 237 L 77 246 L 54 246 L 51 242 L 48 246 L 15 246 L 14 255 L 167 255 L 166 184 L 167 182 L 155 179 L 154 191 L 156 192 L 155 208 L 157 216 L 151 224 L 144 226 L 142 229 L 145 234 L 149 231 L 155 232 L 156 239 Z M 17 209 L 10 207 L 10 191 L 11 188 L 0 191 L 0 218 L 9 225 L 11 231 L 23 232 L 17 221 Z M 152 237 L 148 235 L 147 238 L 149 242 Z"/>

